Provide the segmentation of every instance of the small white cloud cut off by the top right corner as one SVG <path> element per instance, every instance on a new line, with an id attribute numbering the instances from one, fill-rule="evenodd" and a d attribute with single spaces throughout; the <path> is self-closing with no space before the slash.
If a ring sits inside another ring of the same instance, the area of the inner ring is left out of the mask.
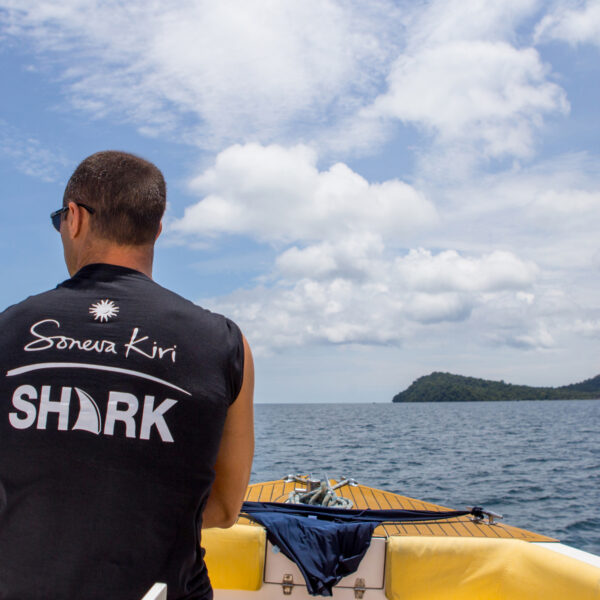
<path id="1" fill-rule="evenodd" d="M 538 42 L 563 40 L 569 44 L 600 46 L 600 4 L 597 0 L 578 2 L 579 6 L 558 5 L 545 15 L 535 30 Z"/>

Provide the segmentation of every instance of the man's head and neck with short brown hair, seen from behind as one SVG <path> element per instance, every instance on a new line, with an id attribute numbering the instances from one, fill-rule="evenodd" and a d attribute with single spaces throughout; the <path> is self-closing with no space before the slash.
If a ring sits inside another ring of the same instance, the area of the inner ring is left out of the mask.
<path id="1" fill-rule="evenodd" d="M 152 163 L 112 150 L 86 158 L 63 196 L 69 210 L 60 231 L 69 271 L 102 262 L 107 253 L 151 257 L 165 206 L 165 180 Z"/>

